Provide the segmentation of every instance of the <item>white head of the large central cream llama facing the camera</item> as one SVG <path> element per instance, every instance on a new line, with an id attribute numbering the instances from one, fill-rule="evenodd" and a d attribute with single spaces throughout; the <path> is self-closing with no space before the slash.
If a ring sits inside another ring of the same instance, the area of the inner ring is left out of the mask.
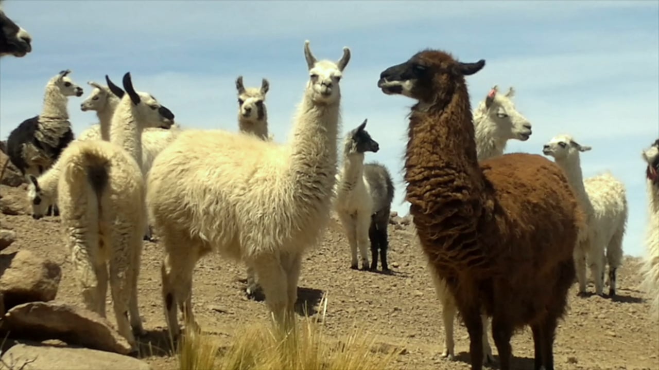
<path id="1" fill-rule="evenodd" d="M 339 81 L 343 76 L 343 69 L 350 61 L 350 49 L 343 47 L 343 56 L 336 63 L 333 61 L 318 61 L 311 53 L 309 40 L 304 41 L 304 58 L 309 70 L 309 82 L 306 92 L 314 103 L 331 104 L 341 98 Z"/>

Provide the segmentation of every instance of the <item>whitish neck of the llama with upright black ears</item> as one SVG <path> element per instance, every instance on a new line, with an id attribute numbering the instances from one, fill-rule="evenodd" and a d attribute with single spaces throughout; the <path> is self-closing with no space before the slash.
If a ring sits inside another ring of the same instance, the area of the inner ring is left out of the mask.
<path id="1" fill-rule="evenodd" d="M 130 98 L 117 105 L 110 124 L 110 142 L 122 147 L 142 168 L 142 126 L 135 119 Z"/>

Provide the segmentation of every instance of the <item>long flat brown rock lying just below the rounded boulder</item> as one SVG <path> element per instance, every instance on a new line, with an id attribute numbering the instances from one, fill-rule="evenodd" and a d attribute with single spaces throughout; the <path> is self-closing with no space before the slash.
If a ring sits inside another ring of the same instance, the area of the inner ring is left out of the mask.
<path id="1" fill-rule="evenodd" d="M 126 338 L 114 330 L 107 319 L 82 307 L 59 302 L 31 302 L 10 309 L 5 322 L 11 332 L 20 333 L 23 338 L 59 339 L 76 346 L 123 355 L 131 352 Z"/>

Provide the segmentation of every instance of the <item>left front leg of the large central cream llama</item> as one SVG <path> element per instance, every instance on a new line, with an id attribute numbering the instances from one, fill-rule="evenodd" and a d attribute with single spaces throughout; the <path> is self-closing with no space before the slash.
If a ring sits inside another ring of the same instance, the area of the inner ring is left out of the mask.
<path id="1" fill-rule="evenodd" d="M 281 265 L 280 256 L 260 255 L 249 262 L 259 277 L 261 288 L 266 294 L 266 304 L 275 321 L 286 327 L 285 316 L 289 304 L 288 282 L 286 271 Z"/>

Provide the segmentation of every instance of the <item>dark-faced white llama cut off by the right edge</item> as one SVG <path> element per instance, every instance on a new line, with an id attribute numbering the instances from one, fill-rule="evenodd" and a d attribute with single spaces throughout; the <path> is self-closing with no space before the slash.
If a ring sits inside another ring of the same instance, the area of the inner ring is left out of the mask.
<path id="1" fill-rule="evenodd" d="M 643 287 L 650 296 L 650 315 L 659 320 L 659 139 L 643 151 L 647 164 L 645 176 L 648 189 L 647 254 L 641 267 Z"/>

